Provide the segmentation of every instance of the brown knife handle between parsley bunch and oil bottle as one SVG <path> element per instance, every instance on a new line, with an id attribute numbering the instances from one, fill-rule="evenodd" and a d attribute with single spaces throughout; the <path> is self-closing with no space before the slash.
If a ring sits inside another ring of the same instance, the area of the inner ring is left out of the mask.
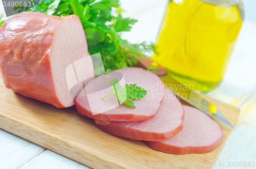
<path id="1" fill-rule="evenodd" d="M 157 62 L 155 62 L 151 57 L 137 57 L 138 63 L 135 65 L 135 67 L 140 67 L 143 69 L 148 69 L 152 66 L 157 67 L 153 73 L 156 75 L 166 75 L 167 74 L 167 69 L 164 68 L 163 66 L 159 65 Z"/>

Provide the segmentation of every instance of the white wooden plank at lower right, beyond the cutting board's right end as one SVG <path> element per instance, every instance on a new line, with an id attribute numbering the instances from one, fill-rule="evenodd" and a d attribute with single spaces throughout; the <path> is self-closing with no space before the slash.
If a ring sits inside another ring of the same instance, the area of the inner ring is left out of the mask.
<path id="1" fill-rule="evenodd" d="M 242 167 L 236 168 L 254 168 L 256 166 L 256 92 L 241 107 L 241 112 L 236 126 L 230 132 L 226 139 L 216 163 L 224 163 L 226 168 L 235 168 L 230 166 L 233 162 Z M 248 164 L 251 167 L 248 167 Z M 246 164 L 246 165 L 245 165 Z M 254 167 L 252 167 L 254 164 Z M 228 167 L 230 166 L 230 167 Z M 219 165 L 214 168 L 224 168 Z"/>

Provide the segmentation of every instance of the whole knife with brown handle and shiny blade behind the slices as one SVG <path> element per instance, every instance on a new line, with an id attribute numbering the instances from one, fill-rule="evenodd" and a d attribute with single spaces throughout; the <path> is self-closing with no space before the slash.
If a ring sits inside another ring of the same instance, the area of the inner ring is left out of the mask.
<path id="1" fill-rule="evenodd" d="M 151 67 L 152 65 L 157 64 L 151 58 L 143 58 L 143 59 L 137 58 L 137 60 L 138 60 L 138 64 L 136 65 L 136 67 L 141 67 L 144 69 L 147 69 L 148 67 Z M 167 70 L 162 66 L 159 66 L 156 70 L 156 74 L 161 78 L 161 80 L 166 85 L 166 87 L 172 90 L 174 94 L 178 96 L 178 98 L 185 100 L 189 104 L 202 110 L 203 112 L 210 115 L 211 117 L 214 117 L 215 119 L 220 120 L 220 122 L 234 128 L 232 124 L 228 121 L 228 119 L 214 105 L 206 101 L 195 91 L 189 90 L 185 85 L 181 84 L 180 82 L 172 78 L 170 75 L 167 75 L 165 73 L 167 73 Z"/>

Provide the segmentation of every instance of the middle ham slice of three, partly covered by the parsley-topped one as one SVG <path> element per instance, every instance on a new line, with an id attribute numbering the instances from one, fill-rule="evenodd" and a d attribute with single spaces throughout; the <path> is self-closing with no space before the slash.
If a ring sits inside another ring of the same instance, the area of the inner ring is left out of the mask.
<path id="1" fill-rule="evenodd" d="M 174 93 L 166 89 L 165 98 L 157 114 L 139 122 L 108 122 L 94 119 L 106 133 L 137 140 L 158 141 L 173 137 L 182 128 L 184 109 Z"/>

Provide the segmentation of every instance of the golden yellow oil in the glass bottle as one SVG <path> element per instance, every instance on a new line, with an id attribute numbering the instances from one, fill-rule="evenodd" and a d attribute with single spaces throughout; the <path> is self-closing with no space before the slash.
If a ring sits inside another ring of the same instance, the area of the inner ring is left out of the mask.
<path id="1" fill-rule="evenodd" d="M 168 4 L 153 59 L 183 84 L 210 91 L 226 71 L 242 26 L 239 5 L 184 0 Z"/>

